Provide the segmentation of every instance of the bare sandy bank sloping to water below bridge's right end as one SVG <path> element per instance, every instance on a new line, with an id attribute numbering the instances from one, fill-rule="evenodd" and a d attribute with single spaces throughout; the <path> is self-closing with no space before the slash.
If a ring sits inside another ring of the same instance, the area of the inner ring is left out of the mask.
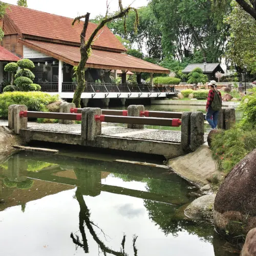
<path id="1" fill-rule="evenodd" d="M 220 175 L 217 162 L 212 159 L 208 145 L 201 145 L 195 152 L 176 157 L 168 161 L 168 165 L 183 178 L 203 186 L 208 184 L 208 178 Z"/>

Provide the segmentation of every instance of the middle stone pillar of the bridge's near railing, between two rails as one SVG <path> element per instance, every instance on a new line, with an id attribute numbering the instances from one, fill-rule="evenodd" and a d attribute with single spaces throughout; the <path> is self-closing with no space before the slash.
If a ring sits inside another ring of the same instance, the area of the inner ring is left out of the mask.
<path id="1" fill-rule="evenodd" d="M 82 110 L 81 139 L 94 140 L 101 135 L 101 122 L 95 121 L 95 115 L 102 114 L 99 108 L 84 108 Z"/>

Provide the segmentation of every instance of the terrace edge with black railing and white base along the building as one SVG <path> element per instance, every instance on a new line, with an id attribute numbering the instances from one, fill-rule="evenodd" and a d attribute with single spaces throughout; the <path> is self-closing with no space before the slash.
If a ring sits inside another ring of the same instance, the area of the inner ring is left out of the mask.
<path id="1" fill-rule="evenodd" d="M 52 94 L 59 94 L 61 98 L 73 98 L 76 84 L 62 83 L 59 91 L 58 82 L 40 84 L 41 91 Z M 115 84 L 115 83 L 87 83 L 81 99 L 91 98 L 158 98 L 174 95 L 174 86 L 150 86 L 147 84 Z"/>

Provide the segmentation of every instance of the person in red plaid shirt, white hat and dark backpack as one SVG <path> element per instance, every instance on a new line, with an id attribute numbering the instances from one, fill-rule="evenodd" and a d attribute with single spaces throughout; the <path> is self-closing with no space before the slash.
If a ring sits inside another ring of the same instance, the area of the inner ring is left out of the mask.
<path id="1" fill-rule="evenodd" d="M 210 91 L 206 103 L 205 120 L 209 123 L 212 129 L 217 129 L 218 115 L 222 107 L 221 93 L 216 88 L 216 81 L 212 80 L 208 83 Z M 212 117 L 212 119 L 211 119 Z"/>

